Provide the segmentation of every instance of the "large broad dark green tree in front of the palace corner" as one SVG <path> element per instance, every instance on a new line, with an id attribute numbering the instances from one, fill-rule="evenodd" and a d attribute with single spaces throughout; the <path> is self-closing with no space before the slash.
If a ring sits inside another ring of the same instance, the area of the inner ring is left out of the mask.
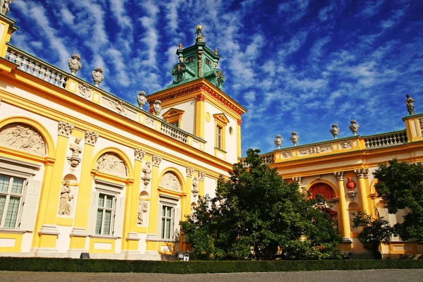
<path id="1" fill-rule="evenodd" d="M 197 257 L 273 259 L 278 248 L 297 258 L 338 257 L 341 237 L 328 215 L 312 207 L 297 183 L 262 164 L 259 152 L 248 149 L 248 167 L 234 164 L 230 177 L 219 179 L 216 197 L 200 199 L 182 223 Z"/>

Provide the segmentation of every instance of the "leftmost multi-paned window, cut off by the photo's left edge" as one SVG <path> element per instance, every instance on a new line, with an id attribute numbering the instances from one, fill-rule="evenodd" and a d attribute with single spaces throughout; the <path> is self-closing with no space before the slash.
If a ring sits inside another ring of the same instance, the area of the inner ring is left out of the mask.
<path id="1" fill-rule="evenodd" d="M 0 174 L 0 227 L 16 228 L 22 206 L 24 178 Z"/>

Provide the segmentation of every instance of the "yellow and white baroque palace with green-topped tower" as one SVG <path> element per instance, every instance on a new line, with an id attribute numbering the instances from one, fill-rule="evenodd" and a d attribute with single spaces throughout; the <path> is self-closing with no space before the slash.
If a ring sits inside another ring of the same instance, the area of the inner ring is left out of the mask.
<path id="1" fill-rule="evenodd" d="M 202 42 L 201 27 L 194 45 L 177 49 L 172 84 L 140 92 L 136 107 L 99 88 L 102 68 L 92 72 L 94 85 L 76 77 L 78 54 L 68 73 L 8 44 L 14 24 L 0 15 L 0 255 L 161 259 L 190 251 L 178 223 L 240 159 L 246 111 L 221 91 L 220 56 Z M 323 194 L 341 250 L 360 254 L 352 212 L 377 208 L 391 224 L 403 215 L 386 212 L 372 171 L 393 157 L 423 160 L 423 115 L 404 121 L 403 131 L 276 149 L 262 159 L 310 195 Z M 393 238 L 383 252 L 422 250 Z"/>

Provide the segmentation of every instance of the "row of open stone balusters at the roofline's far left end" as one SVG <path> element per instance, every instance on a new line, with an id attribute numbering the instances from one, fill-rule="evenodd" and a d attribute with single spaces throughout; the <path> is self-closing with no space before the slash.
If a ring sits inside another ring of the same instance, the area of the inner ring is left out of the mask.
<path id="1" fill-rule="evenodd" d="M 36 78 L 49 82 L 57 87 L 66 87 L 66 83 L 69 78 L 68 73 L 63 72 L 59 68 L 37 59 L 10 44 L 7 45 L 6 59 L 12 63 L 16 63 L 20 71 L 34 75 Z"/>

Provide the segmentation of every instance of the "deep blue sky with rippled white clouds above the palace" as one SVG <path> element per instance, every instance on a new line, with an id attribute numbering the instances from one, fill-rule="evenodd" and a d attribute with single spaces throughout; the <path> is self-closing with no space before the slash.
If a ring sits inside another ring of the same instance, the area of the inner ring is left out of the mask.
<path id="1" fill-rule="evenodd" d="M 172 81 L 179 42 L 190 46 L 198 11 L 203 41 L 219 49 L 223 91 L 243 105 L 243 154 L 358 134 L 405 128 L 405 94 L 423 112 L 423 1 L 16 0 L 10 18 L 20 30 L 11 43 L 136 103 Z"/>

